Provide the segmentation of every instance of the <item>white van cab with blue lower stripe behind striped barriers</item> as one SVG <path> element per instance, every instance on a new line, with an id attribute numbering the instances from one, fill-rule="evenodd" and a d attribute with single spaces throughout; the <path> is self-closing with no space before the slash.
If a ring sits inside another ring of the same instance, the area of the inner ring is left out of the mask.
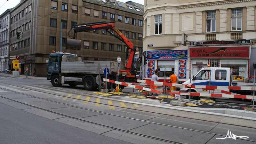
<path id="1" fill-rule="evenodd" d="M 188 85 L 189 80 L 183 84 Z M 229 86 L 230 85 L 230 68 L 202 68 L 191 78 L 192 85 L 215 85 L 215 86 Z M 180 91 L 189 91 L 189 88 L 182 88 Z M 225 90 L 229 91 L 229 90 Z M 191 92 L 200 92 L 200 93 L 220 93 L 204 89 L 194 89 L 191 88 Z M 198 97 L 190 97 L 191 99 L 198 99 Z"/>

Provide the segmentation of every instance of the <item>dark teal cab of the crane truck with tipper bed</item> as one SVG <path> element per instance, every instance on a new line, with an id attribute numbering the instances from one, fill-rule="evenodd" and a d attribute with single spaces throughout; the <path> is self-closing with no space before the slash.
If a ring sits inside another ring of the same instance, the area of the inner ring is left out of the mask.
<path id="1" fill-rule="evenodd" d="M 47 79 L 51 80 L 52 76 L 59 75 L 60 73 L 60 64 L 62 61 L 63 55 L 76 56 L 72 53 L 65 52 L 53 52 L 49 56 L 48 65 L 47 65 Z"/>

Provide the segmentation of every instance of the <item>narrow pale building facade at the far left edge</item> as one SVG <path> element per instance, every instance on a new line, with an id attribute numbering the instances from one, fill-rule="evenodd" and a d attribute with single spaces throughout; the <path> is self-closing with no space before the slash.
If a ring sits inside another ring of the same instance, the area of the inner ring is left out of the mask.
<path id="1" fill-rule="evenodd" d="M 4 73 L 9 61 L 10 11 L 7 9 L 0 15 L 0 72 Z"/>

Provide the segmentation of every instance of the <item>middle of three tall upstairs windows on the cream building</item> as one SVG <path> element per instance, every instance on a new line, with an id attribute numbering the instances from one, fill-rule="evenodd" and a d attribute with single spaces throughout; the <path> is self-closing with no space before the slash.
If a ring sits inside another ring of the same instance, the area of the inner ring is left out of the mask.
<path id="1" fill-rule="evenodd" d="M 216 13 L 215 12 L 207 12 L 206 14 L 206 30 L 207 32 L 216 31 Z"/>

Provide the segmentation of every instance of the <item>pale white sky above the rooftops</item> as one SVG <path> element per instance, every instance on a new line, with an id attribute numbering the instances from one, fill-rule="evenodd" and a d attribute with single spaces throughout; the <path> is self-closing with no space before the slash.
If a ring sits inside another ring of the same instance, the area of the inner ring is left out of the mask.
<path id="1" fill-rule="evenodd" d="M 120 2 L 127 2 L 129 0 L 117 0 Z M 135 3 L 144 4 L 144 0 L 132 0 Z M 20 0 L 0 0 L 0 15 L 5 12 L 7 9 L 11 9 L 17 4 L 20 3 Z"/>

